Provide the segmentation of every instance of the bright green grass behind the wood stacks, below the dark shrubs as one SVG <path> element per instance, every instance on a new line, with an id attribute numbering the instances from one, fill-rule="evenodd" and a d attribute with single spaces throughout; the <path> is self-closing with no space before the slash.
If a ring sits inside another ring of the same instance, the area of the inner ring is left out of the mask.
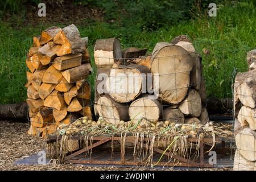
<path id="1" fill-rule="evenodd" d="M 49 26 L 53 25 L 43 24 L 43 28 Z M 157 42 L 170 42 L 177 35 L 187 34 L 192 38 L 196 51 L 203 56 L 208 96 L 232 97 L 234 73 L 247 71 L 246 52 L 256 47 L 255 6 L 245 2 L 221 7 L 217 10 L 217 17 L 186 20 L 176 26 L 166 25 L 156 31 L 142 31 L 136 26 L 118 27 L 100 22 L 89 26 L 77 24 L 77 27 L 81 36 L 89 36 L 91 55 L 96 39 L 116 37 L 123 47 L 137 46 L 152 51 Z M 40 28 L 30 25 L 13 28 L 7 22 L 0 22 L 1 104 L 26 100 L 26 52 L 32 44 L 32 36 L 38 35 Z M 203 48 L 209 49 L 210 55 L 204 55 Z M 92 85 L 96 71 L 94 63 L 93 71 L 90 78 Z"/>

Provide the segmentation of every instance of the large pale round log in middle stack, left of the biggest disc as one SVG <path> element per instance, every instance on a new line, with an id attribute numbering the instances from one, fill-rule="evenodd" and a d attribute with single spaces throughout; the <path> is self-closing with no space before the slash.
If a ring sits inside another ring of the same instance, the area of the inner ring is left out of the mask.
<path id="1" fill-rule="evenodd" d="M 105 84 L 106 90 L 114 101 L 133 101 L 141 93 L 147 93 L 147 88 L 151 88 L 147 85 L 151 84 L 151 81 L 147 82 L 148 73 L 150 70 L 142 65 L 111 69 Z"/>

